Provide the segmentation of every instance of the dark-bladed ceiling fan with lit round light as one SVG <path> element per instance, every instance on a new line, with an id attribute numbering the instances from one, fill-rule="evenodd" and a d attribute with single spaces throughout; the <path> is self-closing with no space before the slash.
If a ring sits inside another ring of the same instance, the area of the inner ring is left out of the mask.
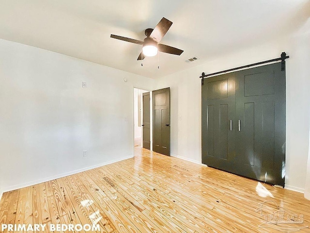
<path id="1" fill-rule="evenodd" d="M 171 53 L 175 55 L 181 55 L 183 50 L 179 50 L 177 48 L 168 45 L 159 44 L 161 39 L 168 32 L 171 25 L 172 22 L 167 18 L 163 17 L 156 25 L 155 29 L 148 28 L 145 30 L 144 34 L 146 35 L 146 38 L 143 41 L 113 34 L 111 34 L 111 38 L 142 45 L 142 51 L 137 60 L 143 60 L 146 56 L 147 57 L 155 56 L 158 51 Z"/>

